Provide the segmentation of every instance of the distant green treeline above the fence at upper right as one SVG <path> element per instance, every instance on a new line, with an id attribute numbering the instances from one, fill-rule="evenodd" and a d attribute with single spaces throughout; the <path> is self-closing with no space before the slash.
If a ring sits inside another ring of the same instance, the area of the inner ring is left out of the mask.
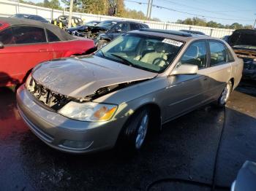
<path id="1" fill-rule="evenodd" d="M 239 23 L 233 23 L 232 25 L 222 25 L 221 23 L 217 23 L 215 21 L 208 21 L 206 22 L 205 19 L 200 19 L 198 17 L 187 18 L 185 20 L 177 20 L 176 23 L 178 24 L 185 24 L 191 26 L 208 26 L 212 28 L 230 28 L 230 29 L 241 29 L 241 28 L 252 28 L 252 26 L 246 25 L 243 26 Z"/>

